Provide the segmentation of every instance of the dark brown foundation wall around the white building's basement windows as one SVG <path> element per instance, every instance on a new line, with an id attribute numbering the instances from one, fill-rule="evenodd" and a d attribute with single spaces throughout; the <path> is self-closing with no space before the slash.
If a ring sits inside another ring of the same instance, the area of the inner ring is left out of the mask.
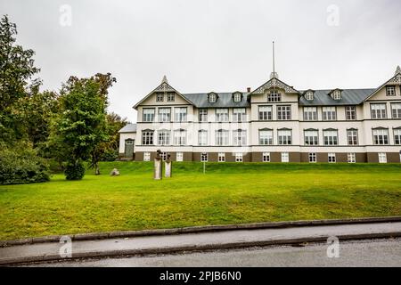
<path id="1" fill-rule="evenodd" d="M 176 152 L 171 152 L 171 159 L 176 160 Z M 201 161 L 201 152 L 184 152 L 184 161 Z M 262 162 L 263 152 L 251 152 L 245 153 L 242 157 L 243 162 Z M 156 157 L 156 152 L 151 151 L 151 160 Z M 290 152 L 289 153 L 290 162 L 309 162 L 308 152 Z M 317 152 L 316 153 L 317 162 L 328 162 L 328 152 Z M 135 160 L 143 161 L 143 151 L 135 152 Z M 214 162 L 218 161 L 217 152 L 208 152 L 208 161 Z M 235 162 L 235 156 L 232 152 L 225 152 L 226 162 Z M 281 152 L 270 152 L 271 162 L 281 162 L 282 154 Z M 348 162 L 348 155 L 344 152 L 336 152 L 337 162 Z M 378 163 L 379 157 L 376 152 L 356 152 L 356 162 L 364 163 Z M 387 152 L 387 162 L 388 163 L 399 163 L 400 157 L 398 152 Z"/>

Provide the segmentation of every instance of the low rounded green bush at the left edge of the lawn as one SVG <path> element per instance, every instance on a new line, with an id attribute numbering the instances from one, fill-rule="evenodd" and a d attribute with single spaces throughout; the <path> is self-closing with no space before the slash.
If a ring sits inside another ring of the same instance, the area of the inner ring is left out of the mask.
<path id="1" fill-rule="evenodd" d="M 0 184 L 38 183 L 50 180 L 49 166 L 29 146 L 11 149 L 0 145 Z"/>

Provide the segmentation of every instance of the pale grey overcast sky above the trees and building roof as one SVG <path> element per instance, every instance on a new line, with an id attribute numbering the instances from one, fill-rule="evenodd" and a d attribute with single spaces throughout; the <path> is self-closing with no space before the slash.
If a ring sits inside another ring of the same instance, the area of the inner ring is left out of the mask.
<path id="1" fill-rule="evenodd" d="M 181 93 L 262 85 L 273 40 L 279 77 L 299 90 L 377 87 L 401 65 L 399 0 L 0 0 L 0 13 L 45 89 L 111 72 L 109 109 L 132 122 L 163 75 Z"/>

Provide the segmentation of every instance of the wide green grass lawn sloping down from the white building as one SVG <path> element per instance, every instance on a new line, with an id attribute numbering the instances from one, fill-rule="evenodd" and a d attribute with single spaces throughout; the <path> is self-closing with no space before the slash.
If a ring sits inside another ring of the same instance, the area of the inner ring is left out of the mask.
<path id="1" fill-rule="evenodd" d="M 121 175 L 111 177 L 113 167 Z M 0 240 L 202 224 L 401 215 L 401 165 L 102 163 L 82 181 L 0 186 Z"/>

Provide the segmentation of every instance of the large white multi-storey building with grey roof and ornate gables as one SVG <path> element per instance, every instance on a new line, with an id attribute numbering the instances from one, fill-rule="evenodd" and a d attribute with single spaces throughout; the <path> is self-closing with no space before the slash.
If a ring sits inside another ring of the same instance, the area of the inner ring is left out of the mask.
<path id="1" fill-rule="evenodd" d="M 121 158 L 401 161 L 401 69 L 374 89 L 297 90 L 275 73 L 247 92 L 182 94 L 166 77 L 120 130 Z"/>

